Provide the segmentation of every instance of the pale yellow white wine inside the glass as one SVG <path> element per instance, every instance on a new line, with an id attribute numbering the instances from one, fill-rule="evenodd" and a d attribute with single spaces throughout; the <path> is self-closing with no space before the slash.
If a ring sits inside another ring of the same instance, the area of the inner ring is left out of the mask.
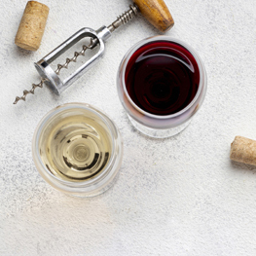
<path id="1" fill-rule="evenodd" d="M 60 115 L 60 114 L 59 114 Z M 82 182 L 99 174 L 112 154 L 109 129 L 96 112 L 63 111 L 52 118 L 39 138 L 43 164 L 56 178 Z"/>

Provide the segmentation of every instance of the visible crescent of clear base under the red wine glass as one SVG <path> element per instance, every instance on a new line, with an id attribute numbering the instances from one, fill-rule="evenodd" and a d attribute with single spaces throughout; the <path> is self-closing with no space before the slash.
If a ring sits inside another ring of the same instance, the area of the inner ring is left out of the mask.
<path id="1" fill-rule="evenodd" d="M 128 115 L 128 114 L 127 114 Z M 135 121 L 133 118 L 131 118 L 128 115 L 128 120 L 132 124 L 134 128 L 136 128 L 138 131 L 141 133 L 153 137 L 153 138 L 167 138 L 167 137 L 172 137 L 179 132 L 181 132 L 184 128 L 187 128 L 188 125 L 190 124 L 191 120 L 187 121 L 186 123 L 176 127 L 176 128 L 147 128 L 137 121 Z"/>

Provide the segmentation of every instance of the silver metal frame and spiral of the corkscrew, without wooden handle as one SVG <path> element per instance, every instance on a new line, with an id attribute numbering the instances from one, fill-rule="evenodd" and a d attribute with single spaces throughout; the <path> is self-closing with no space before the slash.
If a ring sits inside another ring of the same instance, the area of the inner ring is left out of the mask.
<path id="1" fill-rule="evenodd" d="M 62 91 L 67 89 L 72 83 L 74 83 L 77 79 L 79 79 L 87 70 L 91 68 L 93 64 L 95 64 L 99 58 L 104 54 L 104 42 L 111 36 L 111 33 L 117 29 L 122 24 L 125 24 L 133 18 L 137 14 L 137 7 L 135 5 L 130 6 L 128 12 L 125 12 L 122 16 L 118 17 L 113 23 L 111 23 L 108 27 L 102 26 L 98 30 L 94 31 L 93 29 L 86 27 L 80 29 L 70 38 L 68 38 L 65 42 L 55 48 L 49 55 L 44 56 L 38 62 L 34 63 L 38 73 L 42 77 L 40 83 L 38 85 L 33 84 L 32 89 L 30 91 L 24 90 L 23 95 L 21 97 L 16 97 L 14 104 L 18 103 L 18 100 L 24 100 L 27 94 L 32 93 L 36 88 L 42 88 L 43 83 L 45 83 L 55 94 L 59 95 Z M 72 58 L 66 58 L 66 62 L 64 64 L 58 64 L 57 69 L 54 69 L 50 66 L 50 64 L 60 55 L 64 54 L 68 49 L 74 46 L 78 41 L 85 37 L 91 38 L 90 45 L 83 46 L 81 52 L 75 52 Z M 93 49 L 97 45 L 99 45 L 99 50 L 95 55 L 92 55 L 87 62 L 80 66 L 74 73 L 72 73 L 69 77 L 64 79 L 63 81 L 60 79 L 59 72 L 62 68 L 68 68 L 70 62 L 76 62 L 77 57 L 79 55 L 85 55 L 86 50 Z"/>

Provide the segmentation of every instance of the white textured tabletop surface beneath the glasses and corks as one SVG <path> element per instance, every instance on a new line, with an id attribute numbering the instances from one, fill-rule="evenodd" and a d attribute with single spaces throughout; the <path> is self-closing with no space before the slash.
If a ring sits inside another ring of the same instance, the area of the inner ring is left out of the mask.
<path id="1" fill-rule="evenodd" d="M 1 255 L 256 255 L 256 168 L 231 163 L 235 135 L 256 139 L 256 5 L 253 0 L 166 0 L 168 35 L 194 47 L 208 91 L 179 135 L 155 140 L 128 123 L 116 72 L 135 42 L 158 34 L 139 17 L 115 32 L 100 63 L 60 97 L 48 89 L 12 105 L 38 81 L 33 62 L 83 26 L 108 25 L 128 0 L 45 0 L 50 15 L 36 53 L 14 44 L 26 1 L 0 2 Z M 88 102 L 120 128 L 124 162 L 115 186 L 80 200 L 50 187 L 31 158 L 38 122 L 55 106 Z"/>

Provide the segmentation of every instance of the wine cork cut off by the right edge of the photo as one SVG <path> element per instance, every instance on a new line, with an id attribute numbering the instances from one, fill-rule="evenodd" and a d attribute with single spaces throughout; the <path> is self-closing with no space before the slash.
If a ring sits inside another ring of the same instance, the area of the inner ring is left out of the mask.
<path id="1" fill-rule="evenodd" d="M 230 158 L 239 163 L 256 165 L 256 141 L 236 136 L 231 144 Z"/>

